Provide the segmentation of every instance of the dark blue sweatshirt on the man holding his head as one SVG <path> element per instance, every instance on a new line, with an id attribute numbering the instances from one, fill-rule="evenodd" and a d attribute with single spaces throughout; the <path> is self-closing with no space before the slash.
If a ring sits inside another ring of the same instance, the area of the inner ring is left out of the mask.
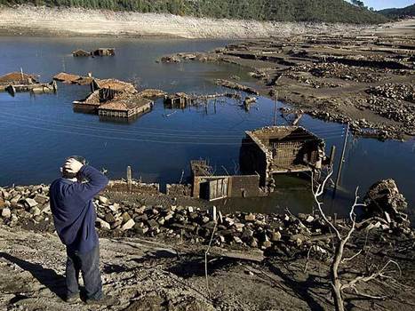
<path id="1" fill-rule="evenodd" d="M 60 241 L 71 251 L 91 251 L 98 244 L 95 230 L 97 214 L 92 203 L 95 195 L 108 185 L 108 178 L 92 166 L 79 171 L 88 182 L 60 178 L 49 189 L 51 210 Z"/>

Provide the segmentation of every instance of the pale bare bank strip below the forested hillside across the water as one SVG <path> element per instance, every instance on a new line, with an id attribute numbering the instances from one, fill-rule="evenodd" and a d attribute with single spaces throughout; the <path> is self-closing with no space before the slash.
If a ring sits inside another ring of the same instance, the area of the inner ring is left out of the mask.
<path id="1" fill-rule="evenodd" d="M 42 36 L 172 36 L 184 38 L 259 38 L 305 33 L 360 32 L 341 24 L 212 20 L 169 14 L 112 12 L 86 9 L 0 7 L 0 34 Z"/>

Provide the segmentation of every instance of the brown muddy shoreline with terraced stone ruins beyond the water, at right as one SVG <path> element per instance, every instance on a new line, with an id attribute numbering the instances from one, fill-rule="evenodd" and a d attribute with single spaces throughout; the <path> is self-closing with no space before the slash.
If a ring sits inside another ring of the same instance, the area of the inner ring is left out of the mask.
<path id="1" fill-rule="evenodd" d="M 402 36 L 325 33 L 251 40 L 212 52 L 178 53 L 162 61 L 232 63 L 257 79 L 261 95 L 277 96 L 293 107 L 284 114 L 350 123 L 362 136 L 407 140 L 415 135 L 415 41 L 404 29 L 415 20 L 403 24 Z"/>

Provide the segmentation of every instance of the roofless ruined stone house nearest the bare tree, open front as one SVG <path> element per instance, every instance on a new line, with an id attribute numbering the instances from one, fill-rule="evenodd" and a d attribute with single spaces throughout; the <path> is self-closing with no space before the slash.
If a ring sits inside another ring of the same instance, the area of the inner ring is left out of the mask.
<path id="1" fill-rule="evenodd" d="M 247 131 L 240 152 L 241 171 L 258 173 L 260 186 L 272 186 L 273 175 L 320 171 L 324 141 L 301 126 L 271 126 Z"/>

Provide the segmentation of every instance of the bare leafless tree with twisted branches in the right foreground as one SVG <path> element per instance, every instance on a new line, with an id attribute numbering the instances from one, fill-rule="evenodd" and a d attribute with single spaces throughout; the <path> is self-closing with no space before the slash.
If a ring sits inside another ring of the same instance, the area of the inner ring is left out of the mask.
<path id="1" fill-rule="evenodd" d="M 365 294 L 361 291 L 358 291 L 358 289 L 356 288 L 356 284 L 357 283 L 364 283 L 364 282 L 369 282 L 371 280 L 374 280 L 376 278 L 379 277 L 389 277 L 388 275 L 386 275 L 387 272 L 387 267 L 389 267 L 391 264 L 394 264 L 396 267 L 398 267 L 399 271 L 400 267 L 399 265 L 394 261 L 394 260 L 388 260 L 387 263 L 381 267 L 379 269 L 379 271 L 371 274 L 371 275 L 367 275 L 367 276 L 358 276 L 355 277 L 355 279 L 350 280 L 350 281 L 344 281 L 342 282 L 342 280 L 339 277 L 339 267 L 341 263 L 344 263 L 348 260 L 352 260 L 355 259 L 356 256 L 358 256 L 360 254 L 360 252 L 356 253 L 354 256 L 352 256 L 349 259 L 343 259 L 343 253 L 344 253 L 344 249 L 345 246 L 347 244 L 347 242 L 350 240 L 351 236 L 353 235 L 353 233 L 355 232 L 355 227 L 356 227 L 356 221 L 355 221 L 355 208 L 358 206 L 366 206 L 366 204 L 364 203 L 358 203 L 359 200 L 359 196 L 358 196 L 358 190 L 359 187 L 356 188 L 355 190 L 355 202 L 353 203 L 350 212 L 349 212 L 349 219 L 351 221 L 351 227 L 349 227 L 347 229 L 346 233 L 341 233 L 339 231 L 339 228 L 336 227 L 325 215 L 324 211 L 323 211 L 323 202 L 319 201 L 319 198 L 321 197 L 321 195 L 323 195 L 324 192 L 324 187 L 327 184 L 327 181 L 331 178 L 332 175 L 332 170 L 328 171 L 327 176 L 325 177 L 325 179 L 323 179 L 323 182 L 321 184 L 319 184 L 316 188 L 314 185 L 314 174 L 312 173 L 311 176 L 311 184 L 312 184 L 312 191 L 313 191 L 313 195 L 315 197 L 315 203 L 317 205 L 317 209 L 320 213 L 320 215 L 322 216 L 324 222 L 331 227 L 331 230 L 334 232 L 334 239 L 335 239 L 335 243 L 334 243 L 334 254 L 333 254 L 333 258 L 331 261 L 331 267 L 330 267 L 330 275 L 331 275 L 331 292 L 332 292 L 332 296 L 334 299 L 334 307 L 337 311 L 344 311 L 344 301 L 343 301 L 343 295 L 342 295 L 342 291 L 345 291 L 347 289 L 351 289 L 354 290 L 356 294 L 366 297 L 366 298 L 371 298 L 371 299 L 383 299 L 385 297 L 379 297 L 379 296 L 372 296 L 372 295 L 368 295 Z"/>

